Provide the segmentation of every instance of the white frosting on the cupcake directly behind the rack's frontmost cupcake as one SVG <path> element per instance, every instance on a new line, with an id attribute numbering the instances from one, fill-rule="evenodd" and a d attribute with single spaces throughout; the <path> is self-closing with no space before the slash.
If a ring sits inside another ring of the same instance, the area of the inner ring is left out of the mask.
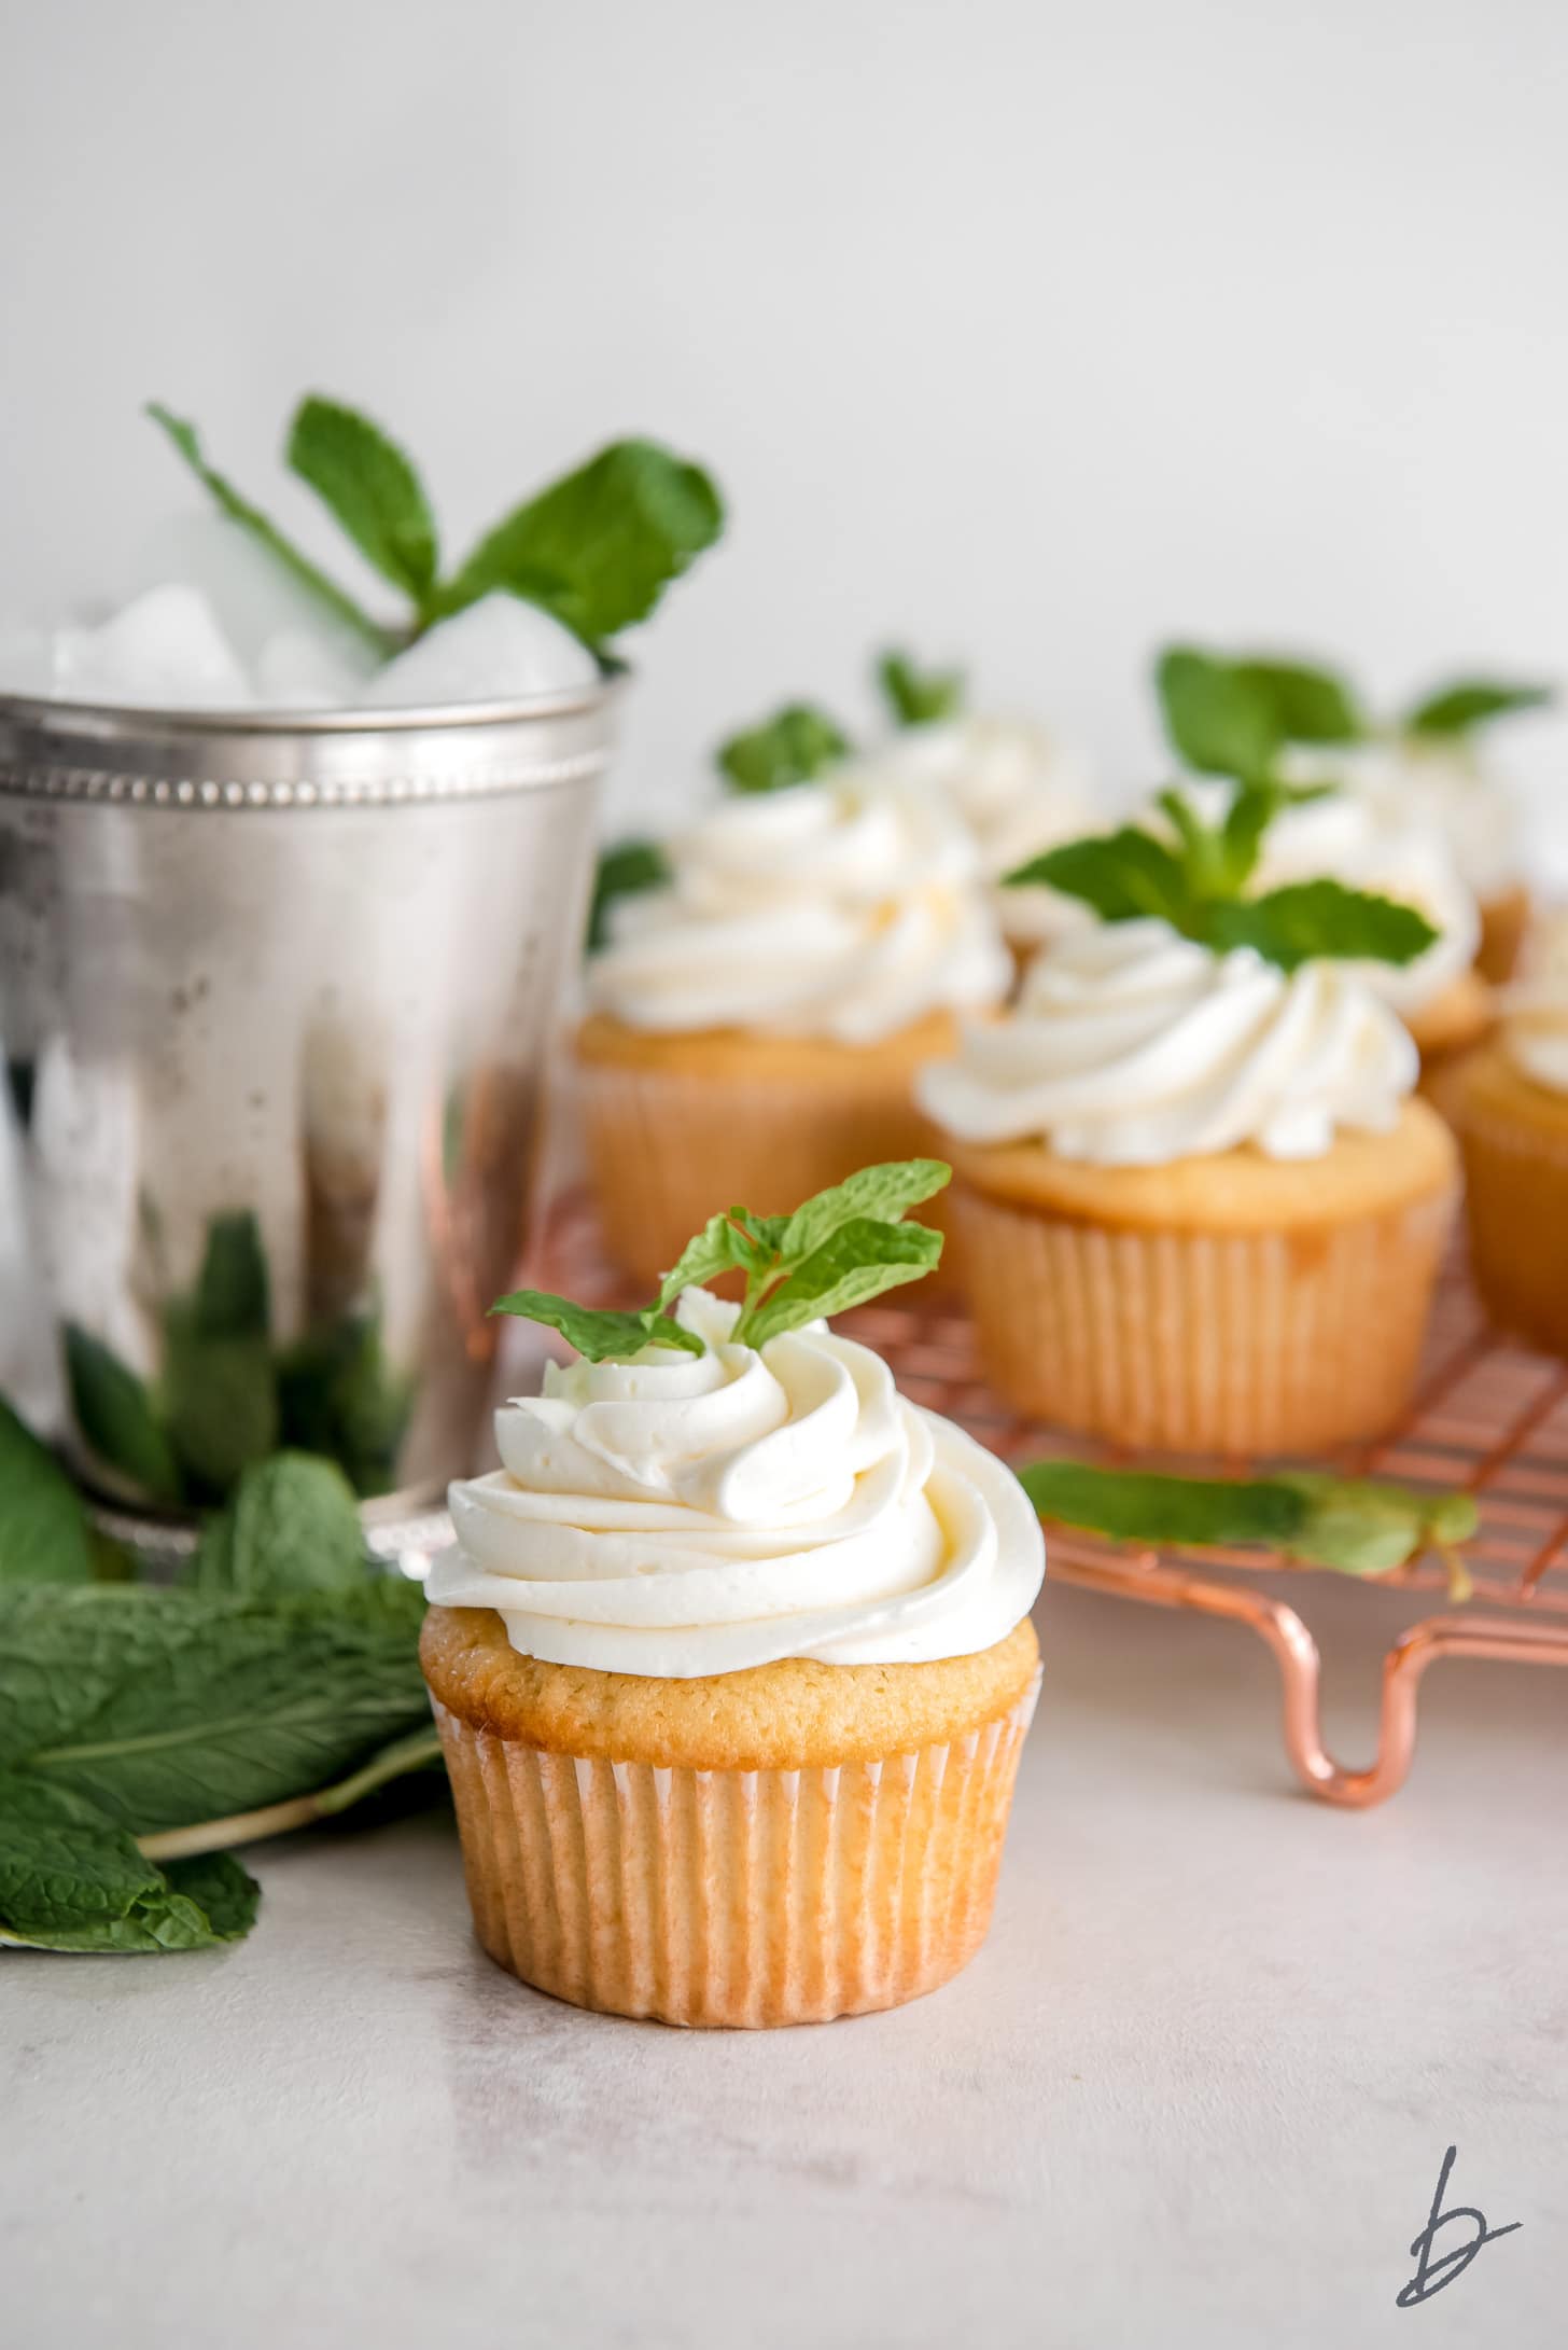
<path id="1" fill-rule="evenodd" d="M 1228 783 L 1183 780 L 1181 790 L 1209 822 L 1218 822 L 1230 804 Z M 1284 808 L 1268 827 L 1249 893 L 1319 877 L 1413 905 L 1437 931 L 1413 964 L 1347 966 L 1397 1013 L 1422 1010 L 1474 964 L 1481 912 L 1434 825 L 1397 822 L 1354 790 Z"/>

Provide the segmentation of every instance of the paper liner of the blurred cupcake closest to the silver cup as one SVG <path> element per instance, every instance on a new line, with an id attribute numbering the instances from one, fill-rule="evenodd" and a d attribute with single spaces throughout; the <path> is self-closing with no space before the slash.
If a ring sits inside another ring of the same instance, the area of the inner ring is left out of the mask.
<path id="1" fill-rule="evenodd" d="M 939 1156 L 904 1067 L 824 1086 L 582 1065 L 577 1102 L 606 1248 L 648 1288 L 718 1208 L 784 1215 L 857 1168 Z"/>

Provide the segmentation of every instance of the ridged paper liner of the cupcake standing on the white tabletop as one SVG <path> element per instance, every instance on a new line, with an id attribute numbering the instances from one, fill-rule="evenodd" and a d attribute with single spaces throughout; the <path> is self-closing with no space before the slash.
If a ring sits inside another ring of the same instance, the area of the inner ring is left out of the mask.
<path id="1" fill-rule="evenodd" d="M 915 2000 L 986 1936 L 1038 1690 L 944 1746 L 753 1772 L 542 1753 L 437 1704 L 479 1941 L 538 1990 L 662 2023 Z"/>

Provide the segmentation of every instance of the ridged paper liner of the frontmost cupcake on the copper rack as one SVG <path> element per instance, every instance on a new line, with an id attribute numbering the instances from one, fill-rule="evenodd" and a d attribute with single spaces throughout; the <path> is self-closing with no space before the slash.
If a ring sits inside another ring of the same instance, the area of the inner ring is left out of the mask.
<path id="1" fill-rule="evenodd" d="M 1110 1229 L 955 1187 L 993 1386 L 1164 1452 L 1317 1452 L 1408 1398 L 1453 1201 L 1289 1234 Z"/>

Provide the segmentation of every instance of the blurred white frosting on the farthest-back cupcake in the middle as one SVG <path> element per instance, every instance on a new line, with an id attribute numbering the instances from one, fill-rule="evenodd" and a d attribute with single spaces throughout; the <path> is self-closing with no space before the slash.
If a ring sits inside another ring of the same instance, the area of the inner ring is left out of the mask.
<path id="1" fill-rule="evenodd" d="M 944 794 L 974 841 L 1002 935 L 1016 947 L 1089 919 L 1054 888 L 1002 888 L 1002 874 L 1094 830 L 1089 764 L 1028 719 L 960 717 L 906 726 L 859 768 Z"/>

